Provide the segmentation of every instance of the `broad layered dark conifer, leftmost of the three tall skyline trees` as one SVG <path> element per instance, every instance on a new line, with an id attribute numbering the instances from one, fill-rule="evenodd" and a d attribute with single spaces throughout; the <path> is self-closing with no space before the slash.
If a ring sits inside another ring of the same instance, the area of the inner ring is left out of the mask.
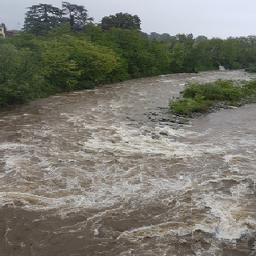
<path id="1" fill-rule="evenodd" d="M 41 35 L 62 22 L 62 10 L 48 4 L 34 5 L 28 8 L 23 30 Z"/>

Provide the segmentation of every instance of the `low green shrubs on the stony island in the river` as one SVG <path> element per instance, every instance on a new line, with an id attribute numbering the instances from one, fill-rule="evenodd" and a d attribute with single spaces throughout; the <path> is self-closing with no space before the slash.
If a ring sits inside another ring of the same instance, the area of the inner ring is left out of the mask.
<path id="1" fill-rule="evenodd" d="M 183 98 L 170 100 L 170 111 L 191 116 L 194 113 L 207 113 L 220 106 L 242 106 L 256 102 L 256 81 L 188 83 L 182 94 Z"/>

